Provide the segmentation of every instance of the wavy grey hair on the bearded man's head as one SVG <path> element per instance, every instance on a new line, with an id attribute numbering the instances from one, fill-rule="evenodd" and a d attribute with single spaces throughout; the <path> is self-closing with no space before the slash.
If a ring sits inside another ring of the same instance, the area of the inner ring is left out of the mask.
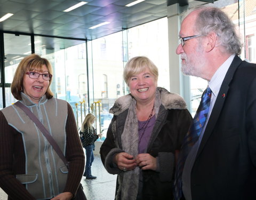
<path id="1" fill-rule="evenodd" d="M 236 32 L 234 23 L 218 7 L 197 6 L 182 13 L 182 19 L 193 11 L 198 11 L 195 30 L 200 35 L 214 32 L 219 37 L 219 44 L 231 54 L 241 54 L 243 43 Z"/>

